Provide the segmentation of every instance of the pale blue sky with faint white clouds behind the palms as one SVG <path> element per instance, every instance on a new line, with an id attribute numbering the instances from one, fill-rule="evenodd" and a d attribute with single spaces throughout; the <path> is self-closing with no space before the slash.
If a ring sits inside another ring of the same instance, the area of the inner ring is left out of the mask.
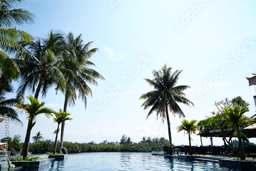
<path id="1" fill-rule="evenodd" d="M 36 23 L 18 27 L 33 36 L 44 36 L 51 29 L 82 33 L 84 41 L 94 41 L 92 56 L 105 81 L 91 86 L 87 109 L 80 100 L 68 108 L 73 120 L 67 122 L 65 140 L 77 142 L 120 141 L 123 134 L 138 142 L 145 136 L 168 138 L 166 123 L 141 108 L 141 94 L 153 90 L 143 79 L 152 79 L 152 70 L 164 63 L 183 70 L 178 84 L 195 108 L 181 105 L 187 120 L 205 119 L 217 111 L 215 101 L 242 96 L 255 114 L 253 87 L 246 76 L 256 70 L 256 2 L 254 1 L 36 1 L 26 0 L 19 7 L 36 15 Z M 26 92 L 30 95 L 30 92 Z M 103 100 L 105 99 L 105 100 Z M 40 99 L 57 111 L 63 107 L 63 95 L 54 90 Z M 9 135 L 25 138 L 24 128 L 13 124 Z M 173 143 L 188 144 L 187 135 L 177 133 L 182 119 L 170 117 Z M 54 139 L 57 125 L 45 116 L 37 118 L 32 136 L 41 132 Z M 2 135 L 3 137 L 3 135 Z M 0 137 L 1 138 L 1 137 Z M 256 140 L 250 139 L 252 142 Z M 214 138 L 215 144 L 222 144 Z M 200 137 L 193 136 L 193 145 Z M 203 138 L 203 144 L 209 140 Z"/>

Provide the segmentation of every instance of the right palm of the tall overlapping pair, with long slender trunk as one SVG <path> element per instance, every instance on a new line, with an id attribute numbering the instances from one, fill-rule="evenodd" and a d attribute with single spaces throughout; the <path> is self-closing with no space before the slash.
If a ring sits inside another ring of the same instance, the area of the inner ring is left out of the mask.
<path id="1" fill-rule="evenodd" d="M 62 56 L 60 65 L 71 70 L 74 75 L 66 76 L 65 86 L 57 88 L 65 94 L 64 112 L 67 112 L 68 104 L 75 105 L 76 92 L 78 92 L 78 97 L 82 99 L 86 107 L 87 95 L 92 96 L 92 90 L 88 83 L 97 86 L 96 79 L 104 79 L 97 71 L 89 68 L 90 66 L 95 66 L 89 59 L 98 50 L 97 48 L 89 49 L 91 43 L 84 44 L 81 34 L 74 37 L 73 33 L 70 32 L 66 37 L 66 53 Z M 64 128 L 65 121 L 61 123 L 60 148 L 63 147 Z"/>

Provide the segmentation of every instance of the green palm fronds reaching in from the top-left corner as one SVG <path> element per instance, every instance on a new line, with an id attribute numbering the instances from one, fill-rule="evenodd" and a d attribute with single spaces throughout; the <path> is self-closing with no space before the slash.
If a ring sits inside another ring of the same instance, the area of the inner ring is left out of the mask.
<path id="1" fill-rule="evenodd" d="M 19 69 L 9 55 L 23 49 L 16 42 L 28 42 L 33 38 L 24 31 L 16 30 L 16 27 L 9 28 L 34 23 L 34 14 L 24 9 L 13 9 L 19 2 L 22 0 L 0 0 L 0 69 L 10 78 L 17 78 Z"/>

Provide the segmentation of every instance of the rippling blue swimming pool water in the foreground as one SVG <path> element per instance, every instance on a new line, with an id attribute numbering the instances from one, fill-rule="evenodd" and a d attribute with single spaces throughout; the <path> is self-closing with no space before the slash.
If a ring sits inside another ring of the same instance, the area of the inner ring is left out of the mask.
<path id="1" fill-rule="evenodd" d="M 40 168 L 48 170 L 239 170 L 220 167 L 219 163 L 183 161 L 151 153 L 78 153 L 64 161 L 52 161 Z"/>

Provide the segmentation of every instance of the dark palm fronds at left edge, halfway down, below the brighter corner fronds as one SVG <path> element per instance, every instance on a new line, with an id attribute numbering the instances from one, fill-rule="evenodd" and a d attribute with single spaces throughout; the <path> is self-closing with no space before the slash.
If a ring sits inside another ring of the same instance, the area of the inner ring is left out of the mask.
<path id="1" fill-rule="evenodd" d="M 9 121 L 23 126 L 22 121 L 18 119 L 17 112 L 11 108 L 15 103 L 18 102 L 18 100 L 15 98 L 5 98 L 7 93 L 12 93 L 12 86 L 11 82 L 9 81 L 9 76 L 6 74 L 0 75 L 0 82 L 0 116 L 7 116 Z"/>

